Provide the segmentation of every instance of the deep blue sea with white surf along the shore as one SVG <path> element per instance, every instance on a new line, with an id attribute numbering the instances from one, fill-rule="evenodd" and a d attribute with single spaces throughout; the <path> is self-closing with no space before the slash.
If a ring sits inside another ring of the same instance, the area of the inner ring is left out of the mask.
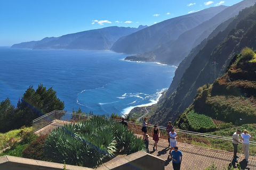
<path id="1" fill-rule="evenodd" d="M 176 66 L 130 62 L 109 50 L 32 50 L 0 47 L 0 101 L 17 106 L 29 86 L 53 88 L 65 111 L 127 114 L 157 103 Z"/>

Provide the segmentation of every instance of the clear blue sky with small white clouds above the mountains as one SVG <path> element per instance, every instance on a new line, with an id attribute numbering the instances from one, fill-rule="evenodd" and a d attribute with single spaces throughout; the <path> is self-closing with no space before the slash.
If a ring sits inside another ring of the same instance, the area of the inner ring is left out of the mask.
<path id="1" fill-rule="evenodd" d="M 153 25 L 242 0 L 0 0 L 0 46 L 104 27 Z"/>

